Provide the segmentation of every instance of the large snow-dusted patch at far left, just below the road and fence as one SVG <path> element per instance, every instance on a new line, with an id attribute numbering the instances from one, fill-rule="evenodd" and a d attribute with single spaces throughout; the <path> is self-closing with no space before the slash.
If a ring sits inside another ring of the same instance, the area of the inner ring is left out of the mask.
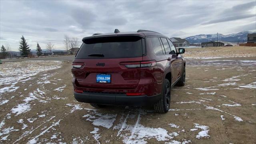
<path id="1" fill-rule="evenodd" d="M 4 62 L 0 66 L 0 95 L 16 91 L 19 87 L 15 84 L 18 82 L 32 80 L 36 74 L 60 68 L 61 64 L 60 61 Z"/>

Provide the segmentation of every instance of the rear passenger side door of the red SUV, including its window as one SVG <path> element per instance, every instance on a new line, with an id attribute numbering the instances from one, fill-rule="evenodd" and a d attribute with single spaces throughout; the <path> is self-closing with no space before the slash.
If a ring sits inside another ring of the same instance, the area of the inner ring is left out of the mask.
<path id="1" fill-rule="evenodd" d="M 166 38 L 160 38 L 163 45 L 164 45 L 164 50 L 166 53 L 166 58 L 167 60 L 170 62 L 170 68 L 172 70 L 172 83 L 176 81 L 176 79 L 178 78 L 177 75 L 177 59 L 176 57 L 173 56 L 173 54 L 171 53 L 171 49 L 170 46 L 168 44 L 168 41 Z"/>

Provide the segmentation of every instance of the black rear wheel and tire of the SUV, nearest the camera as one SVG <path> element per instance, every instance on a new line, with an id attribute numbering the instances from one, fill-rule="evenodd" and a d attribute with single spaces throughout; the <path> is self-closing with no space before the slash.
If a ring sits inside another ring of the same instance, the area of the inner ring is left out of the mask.
<path id="1" fill-rule="evenodd" d="M 164 79 L 161 92 L 161 99 L 154 104 L 154 110 L 158 113 L 166 113 L 170 108 L 171 103 L 171 85 L 168 79 Z"/>

